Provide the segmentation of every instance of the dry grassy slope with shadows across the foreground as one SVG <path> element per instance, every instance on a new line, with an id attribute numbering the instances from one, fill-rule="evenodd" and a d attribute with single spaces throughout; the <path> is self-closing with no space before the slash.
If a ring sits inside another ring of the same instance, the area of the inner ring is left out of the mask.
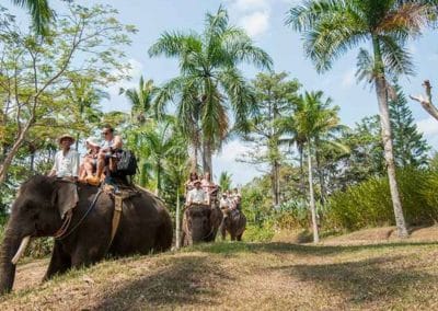
<path id="1" fill-rule="evenodd" d="M 2 298 L 0 310 L 438 309 L 437 246 L 200 245 L 73 270 Z"/>

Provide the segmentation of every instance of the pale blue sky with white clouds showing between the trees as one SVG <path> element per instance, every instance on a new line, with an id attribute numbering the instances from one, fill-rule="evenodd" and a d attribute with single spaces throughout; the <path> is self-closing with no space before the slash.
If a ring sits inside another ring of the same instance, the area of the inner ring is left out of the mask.
<path id="1" fill-rule="evenodd" d="M 298 0 L 76 0 L 80 4 L 106 3 L 119 11 L 123 23 L 134 24 L 139 30 L 130 47 L 126 48 L 128 61 L 132 66 L 131 81 L 123 81 L 112 85 L 112 95 L 104 108 L 129 110 L 127 101 L 118 95 L 118 88 L 137 85 L 138 78 L 143 74 L 160 84 L 177 74 L 177 62 L 174 59 L 148 57 L 147 50 L 164 31 L 200 31 L 207 11 L 217 11 L 223 4 L 230 14 L 231 22 L 245 28 L 256 44 L 264 48 L 274 59 L 276 71 L 286 71 L 291 78 L 298 78 L 306 90 L 322 90 L 341 106 L 341 118 L 346 125 L 354 125 L 360 118 L 378 112 L 376 94 L 357 84 L 355 66 L 357 50 L 339 58 L 333 69 L 319 74 L 309 59 L 306 59 L 300 36 L 285 26 L 287 10 Z M 57 10 L 64 5 L 59 0 L 51 0 Z M 15 10 L 14 10 L 15 11 Z M 20 14 L 20 19 L 22 19 Z M 368 48 L 368 46 L 364 46 Z M 408 44 L 417 76 L 408 80 L 402 79 L 401 84 L 406 94 L 422 93 L 422 81 L 429 79 L 438 90 L 438 31 L 428 31 L 423 37 Z M 243 67 L 247 78 L 257 72 L 254 68 Z M 438 91 L 436 91 L 436 94 Z M 414 117 L 430 145 L 438 149 L 438 123 L 431 119 L 418 105 L 410 102 Z M 245 146 L 234 140 L 224 146 L 222 153 L 215 158 L 215 175 L 223 170 L 233 174 L 234 182 L 249 182 L 258 172 L 255 168 L 235 162 L 235 158 L 245 151 Z"/>

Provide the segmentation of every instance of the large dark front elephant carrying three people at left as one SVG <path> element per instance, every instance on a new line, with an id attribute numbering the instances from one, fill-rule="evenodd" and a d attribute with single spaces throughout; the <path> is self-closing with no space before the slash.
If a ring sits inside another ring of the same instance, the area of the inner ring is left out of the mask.
<path id="1" fill-rule="evenodd" d="M 77 192 L 71 191 L 72 186 Z M 0 293 L 11 291 L 16 256 L 24 252 L 30 238 L 54 237 L 62 228 L 65 234 L 55 239 L 43 280 L 71 267 L 89 266 L 106 255 L 149 254 L 171 247 L 172 220 L 158 197 L 137 188 L 135 196 L 125 198 L 112 239 L 114 201 L 110 193 L 96 195 L 97 192 L 95 186 L 43 175 L 33 176 L 21 186 L 0 251 Z M 69 205 L 73 209 L 70 222 L 66 223 L 62 216 Z"/>

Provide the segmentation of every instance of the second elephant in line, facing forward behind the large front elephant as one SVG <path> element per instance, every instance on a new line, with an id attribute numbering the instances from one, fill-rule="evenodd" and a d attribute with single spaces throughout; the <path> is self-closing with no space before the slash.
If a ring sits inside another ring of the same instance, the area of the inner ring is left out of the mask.
<path id="1" fill-rule="evenodd" d="M 216 204 L 193 204 L 184 210 L 182 245 L 214 242 L 222 222 L 222 212 Z"/>

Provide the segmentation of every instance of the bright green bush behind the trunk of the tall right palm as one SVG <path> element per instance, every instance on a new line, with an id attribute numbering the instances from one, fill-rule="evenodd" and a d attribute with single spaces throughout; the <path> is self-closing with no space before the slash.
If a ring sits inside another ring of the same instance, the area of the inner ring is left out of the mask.
<path id="1" fill-rule="evenodd" d="M 438 218 L 438 174 L 430 171 L 397 172 L 404 216 L 408 224 L 429 224 Z M 333 194 L 323 217 L 324 230 L 357 230 L 394 224 L 388 177 L 372 177 Z"/>

